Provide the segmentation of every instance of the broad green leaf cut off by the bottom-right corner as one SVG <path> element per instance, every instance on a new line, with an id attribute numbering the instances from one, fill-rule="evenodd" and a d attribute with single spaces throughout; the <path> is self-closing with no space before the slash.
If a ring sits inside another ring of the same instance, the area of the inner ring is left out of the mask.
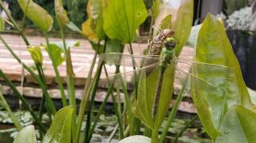
<path id="1" fill-rule="evenodd" d="M 256 113 L 241 105 L 233 105 L 223 118 L 220 126 L 222 135 L 215 142 L 254 142 L 256 141 L 255 126 Z"/>

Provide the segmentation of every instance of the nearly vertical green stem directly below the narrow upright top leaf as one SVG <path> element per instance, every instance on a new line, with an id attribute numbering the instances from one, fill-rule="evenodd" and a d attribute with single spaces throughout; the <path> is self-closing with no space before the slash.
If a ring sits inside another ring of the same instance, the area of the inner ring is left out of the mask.
<path id="1" fill-rule="evenodd" d="M 72 121 L 74 124 L 72 124 L 72 138 L 74 140 L 75 135 L 76 135 L 76 123 L 77 123 L 77 110 L 76 110 L 76 98 L 75 98 L 75 92 L 74 92 L 74 71 L 73 71 L 73 66 L 72 66 L 72 60 L 71 60 L 71 55 L 70 55 L 70 48 L 66 47 L 66 41 L 65 41 L 65 35 L 64 35 L 64 30 L 62 27 L 61 29 L 61 35 L 62 35 L 62 42 L 66 54 L 66 78 L 67 78 L 67 87 L 68 87 L 68 93 L 69 93 L 69 101 L 70 105 L 72 105 L 75 109 L 73 111 L 73 117 Z"/>

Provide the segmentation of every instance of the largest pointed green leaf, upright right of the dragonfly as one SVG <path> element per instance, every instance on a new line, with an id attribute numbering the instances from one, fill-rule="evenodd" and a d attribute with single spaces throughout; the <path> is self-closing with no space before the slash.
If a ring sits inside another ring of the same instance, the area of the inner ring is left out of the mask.
<path id="1" fill-rule="evenodd" d="M 232 105 L 252 107 L 252 104 L 225 30 L 210 14 L 198 33 L 195 60 L 220 65 L 219 68 L 193 69 L 201 80 L 192 80 L 191 84 L 191 94 L 202 125 L 214 140 L 220 133 L 218 128 L 224 115 Z"/>

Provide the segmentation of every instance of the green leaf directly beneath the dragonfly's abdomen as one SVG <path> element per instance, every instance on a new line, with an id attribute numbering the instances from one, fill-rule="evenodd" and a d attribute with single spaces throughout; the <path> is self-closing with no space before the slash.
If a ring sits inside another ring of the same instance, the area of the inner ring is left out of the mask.
<path id="1" fill-rule="evenodd" d="M 152 107 L 154 96 L 157 89 L 159 70 L 154 70 L 148 77 L 142 72 L 138 86 L 138 99 L 133 99 L 133 112 L 150 129 L 159 129 L 162 121 L 166 117 L 170 106 L 170 100 L 174 85 L 174 67 L 168 67 L 164 73 L 162 81 L 162 92 L 158 103 L 158 111 L 154 121 L 152 116 Z"/>

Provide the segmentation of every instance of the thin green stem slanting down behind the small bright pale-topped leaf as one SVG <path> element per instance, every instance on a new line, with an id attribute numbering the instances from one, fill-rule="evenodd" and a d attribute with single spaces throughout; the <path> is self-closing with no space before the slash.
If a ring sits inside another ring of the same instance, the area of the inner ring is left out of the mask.
<path id="1" fill-rule="evenodd" d="M 50 57 L 50 60 L 53 64 L 53 67 L 54 67 L 54 73 L 55 73 L 55 76 L 56 76 L 56 81 L 58 82 L 58 88 L 61 92 L 61 95 L 62 95 L 62 105 L 63 106 L 66 106 L 67 105 L 67 102 L 66 102 L 66 96 L 65 96 L 65 92 L 64 92 L 64 87 L 63 87 L 63 84 L 62 84 L 62 79 L 59 75 L 59 72 L 58 72 L 58 68 L 57 68 L 57 64 L 54 60 L 54 55 L 52 53 L 52 48 L 50 46 L 50 42 L 49 42 L 49 38 L 48 38 L 48 34 L 45 33 L 45 38 L 46 38 L 46 44 L 47 44 L 47 47 L 48 47 L 48 54 L 49 54 L 49 57 Z"/>

